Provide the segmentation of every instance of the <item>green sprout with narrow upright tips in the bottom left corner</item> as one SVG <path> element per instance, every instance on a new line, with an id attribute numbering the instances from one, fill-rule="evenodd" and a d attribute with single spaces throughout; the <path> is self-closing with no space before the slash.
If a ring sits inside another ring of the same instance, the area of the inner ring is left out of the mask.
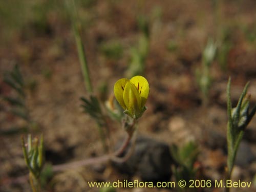
<path id="1" fill-rule="evenodd" d="M 28 143 L 25 144 L 22 137 L 23 155 L 27 167 L 29 168 L 29 181 L 33 192 L 41 190 L 40 174 L 44 165 L 44 138 L 35 137 L 33 140 L 31 135 L 28 135 Z"/>

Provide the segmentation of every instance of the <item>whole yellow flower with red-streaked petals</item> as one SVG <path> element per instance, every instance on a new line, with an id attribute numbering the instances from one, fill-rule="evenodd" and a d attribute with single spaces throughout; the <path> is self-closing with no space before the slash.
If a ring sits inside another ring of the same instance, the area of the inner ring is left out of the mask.
<path id="1" fill-rule="evenodd" d="M 114 86 L 116 100 L 125 110 L 124 113 L 138 119 L 146 110 L 145 103 L 150 91 L 147 80 L 142 76 L 119 79 Z"/>

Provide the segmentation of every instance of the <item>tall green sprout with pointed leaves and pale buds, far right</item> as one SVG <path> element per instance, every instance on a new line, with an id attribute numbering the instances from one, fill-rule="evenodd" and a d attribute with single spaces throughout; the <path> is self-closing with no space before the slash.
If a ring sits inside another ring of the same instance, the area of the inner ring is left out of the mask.
<path id="1" fill-rule="evenodd" d="M 247 82 L 246 86 L 244 87 L 237 106 L 232 108 L 230 83 L 231 78 L 229 78 L 227 83 L 227 179 L 230 179 L 231 177 L 234 161 L 236 160 L 238 147 L 244 135 L 244 131 L 256 112 L 256 105 L 249 112 L 250 94 L 247 94 L 249 82 Z M 229 188 L 226 188 L 226 191 L 229 191 Z"/>

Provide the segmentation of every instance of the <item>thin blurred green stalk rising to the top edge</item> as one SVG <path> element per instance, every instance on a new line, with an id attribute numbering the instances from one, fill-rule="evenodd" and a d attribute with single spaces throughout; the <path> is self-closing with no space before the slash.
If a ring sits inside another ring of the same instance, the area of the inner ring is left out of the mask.
<path id="1" fill-rule="evenodd" d="M 79 29 L 79 19 L 78 19 L 78 14 L 76 11 L 76 6 L 74 1 L 69 1 L 66 0 L 66 5 L 67 9 L 71 18 L 71 23 L 75 35 L 75 40 L 76 40 L 76 48 L 78 52 L 78 57 L 81 65 L 81 70 L 83 74 L 83 79 L 84 79 L 84 85 L 86 86 L 86 89 L 89 93 L 93 93 L 93 88 L 92 88 L 92 83 L 91 83 L 91 78 L 90 78 L 90 72 L 88 68 L 88 62 L 86 58 L 86 54 L 84 51 L 84 46 L 82 43 L 81 35 L 80 35 L 80 29 Z"/>

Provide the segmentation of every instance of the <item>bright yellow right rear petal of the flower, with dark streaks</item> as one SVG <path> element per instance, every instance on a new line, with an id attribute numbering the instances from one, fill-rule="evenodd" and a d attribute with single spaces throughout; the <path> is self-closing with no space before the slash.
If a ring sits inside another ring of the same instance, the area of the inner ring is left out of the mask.
<path id="1" fill-rule="evenodd" d="M 148 93 L 150 92 L 150 85 L 145 77 L 139 75 L 131 78 L 130 82 L 132 82 L 139 91 L 141 97 L 141 106 L 143 107 L 146 103 Z"/>

